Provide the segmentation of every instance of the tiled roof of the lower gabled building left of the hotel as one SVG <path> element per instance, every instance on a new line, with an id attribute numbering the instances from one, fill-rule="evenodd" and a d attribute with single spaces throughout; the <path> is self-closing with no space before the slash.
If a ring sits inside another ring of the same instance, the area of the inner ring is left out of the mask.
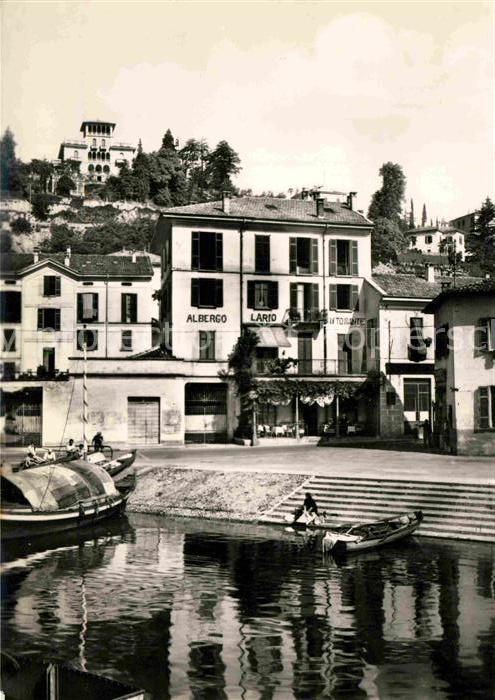
<path id="1" fill-rule="evenodd" d="M 40 253 L 39 259 L 53 260 L 65 267 L 65 253 Z M 34 264 L 32 253 L 4 253 L 0 256 L 0 271 L 15 274 Z M 67 268 L 84 277 L 152 277 L 153 268 L 147 255 L 112 256 L 73 253 Z"/>

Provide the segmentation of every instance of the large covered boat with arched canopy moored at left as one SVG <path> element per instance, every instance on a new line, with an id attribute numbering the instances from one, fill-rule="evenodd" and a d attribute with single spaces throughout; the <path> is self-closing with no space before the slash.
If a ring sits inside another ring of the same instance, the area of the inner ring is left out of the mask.
<path id="1" fill-rule="evenodd" d="M 110 474 L 82 460 L 1 471 L 0 523 L 6 539 L 46 535 L 92 525 L 122 513 L 132 493 Z"/>

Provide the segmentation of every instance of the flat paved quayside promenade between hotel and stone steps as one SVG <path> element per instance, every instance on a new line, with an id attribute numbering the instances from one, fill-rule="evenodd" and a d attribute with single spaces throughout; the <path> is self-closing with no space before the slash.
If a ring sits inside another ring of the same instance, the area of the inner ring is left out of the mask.
<path id="1" fill-rule="evenodd" d="M 143 448 L 138 452 L 137 465 L 495 485 L 495 460 L 492 458 L 388 449 L 316 445 Z"/>

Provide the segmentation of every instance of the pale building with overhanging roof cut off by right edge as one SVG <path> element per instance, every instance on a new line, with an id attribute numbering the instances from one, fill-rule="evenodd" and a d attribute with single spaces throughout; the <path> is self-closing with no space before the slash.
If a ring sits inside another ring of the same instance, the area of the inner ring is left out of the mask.
<path id="1" fill-rule="evenodd" d="M 495 285 L 443 291 L 435 315 L 434 428 L 453 454 L 495 455 Z"/>

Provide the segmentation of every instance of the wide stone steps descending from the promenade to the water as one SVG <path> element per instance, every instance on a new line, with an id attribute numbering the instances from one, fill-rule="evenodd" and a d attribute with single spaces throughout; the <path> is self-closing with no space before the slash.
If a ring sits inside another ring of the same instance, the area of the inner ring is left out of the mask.
<path id="1" fill-rule="evenodd" d="M 422 510 L 418 535 L 495 542 L 493 484 L 404 481 L 338 476 L 311 476 L 270 511 L 261 522 L 284 522 L 309 491 L 321 511 L 337 521 L 355 523 Z"/>

